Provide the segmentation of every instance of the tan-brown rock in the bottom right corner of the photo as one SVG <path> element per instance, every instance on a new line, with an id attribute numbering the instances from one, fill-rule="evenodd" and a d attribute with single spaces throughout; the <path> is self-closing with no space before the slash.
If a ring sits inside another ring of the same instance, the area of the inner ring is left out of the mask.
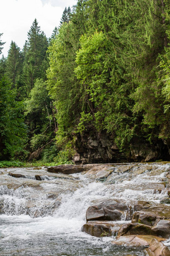
<path id="1" fill-rule="evenodd" d="M 146 249 L 148 256 L 170 256 L 168 247 L 157 239 L 152 239 L 150 246 Z"/>

